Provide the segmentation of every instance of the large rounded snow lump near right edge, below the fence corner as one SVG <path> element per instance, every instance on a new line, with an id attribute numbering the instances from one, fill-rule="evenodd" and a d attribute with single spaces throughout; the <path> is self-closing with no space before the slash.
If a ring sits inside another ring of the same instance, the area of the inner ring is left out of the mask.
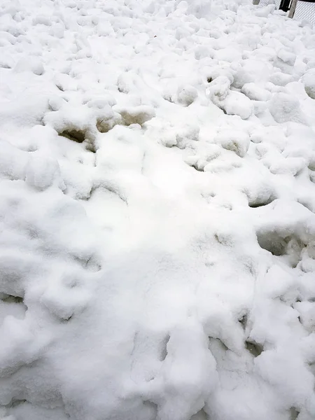
<path id="1" fill-rule="evenodd" d="M 269 111 L 276 123 L 304 123 L 300 102 L 287 93 L 275 93 L 269 102 Z"/>

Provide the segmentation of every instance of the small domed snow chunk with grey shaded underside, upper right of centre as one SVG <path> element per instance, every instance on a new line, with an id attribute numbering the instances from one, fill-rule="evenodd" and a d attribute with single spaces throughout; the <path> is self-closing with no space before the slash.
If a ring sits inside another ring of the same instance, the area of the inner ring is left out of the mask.
<path id="1" fill-rule="evenodd" d="M 220 144 L 223 148 L 235 152 L 239 157 L 244 158 L 248 151 L 250 138 L 246 132 L 237 130 L 224 130 L 215 138 L 214 142 Z"/>

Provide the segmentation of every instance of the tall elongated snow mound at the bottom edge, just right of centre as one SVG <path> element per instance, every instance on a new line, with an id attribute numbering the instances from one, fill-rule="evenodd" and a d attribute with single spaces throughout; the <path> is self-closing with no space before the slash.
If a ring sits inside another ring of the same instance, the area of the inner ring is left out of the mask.
<path id="1" fill-rule="evenodd" d="M 158 405 L 160 419 L 169 419 L 171 412 L 172 420 L 189 419 L 204 407 L 217 383 L 207 336 L 200 323 L 188 319 L 170 332 L 161 372 L 149 382 L 149 398 Z"/>

